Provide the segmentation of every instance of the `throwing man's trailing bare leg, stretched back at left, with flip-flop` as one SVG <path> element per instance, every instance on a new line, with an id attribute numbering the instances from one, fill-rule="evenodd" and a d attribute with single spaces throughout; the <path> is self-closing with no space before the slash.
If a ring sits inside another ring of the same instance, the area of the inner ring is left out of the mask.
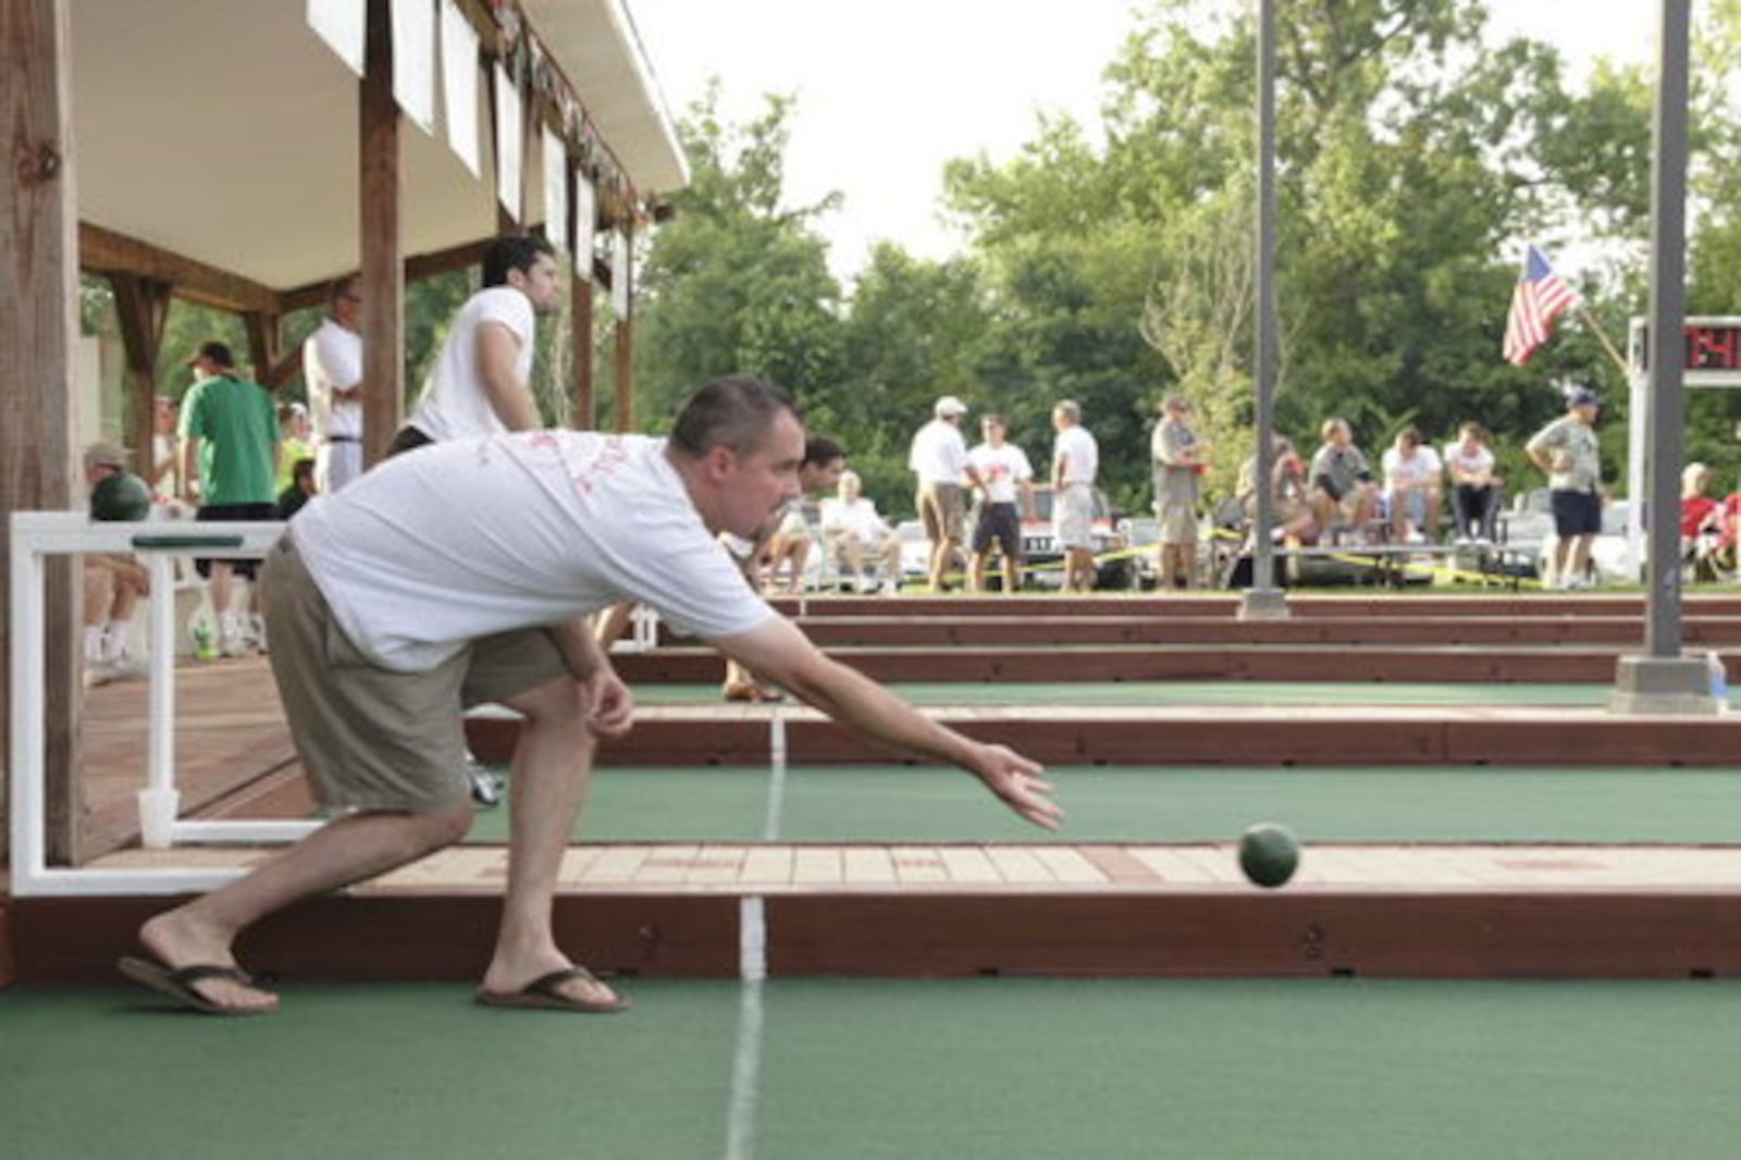
<path id="1" fill-rule="evenodd" d="M 139 928 L 139 942 L 165 967 L 235 967 L 235 939 L 291 902 L 385 874 L 460 838 L 472 826 L 461 801 L 435 813 L 355 813 L 327 822 L 245 878 Z M 195 989 L 230 1010 L 272 1010 L 279 996 L 230 981 L 202 979 Z"/>

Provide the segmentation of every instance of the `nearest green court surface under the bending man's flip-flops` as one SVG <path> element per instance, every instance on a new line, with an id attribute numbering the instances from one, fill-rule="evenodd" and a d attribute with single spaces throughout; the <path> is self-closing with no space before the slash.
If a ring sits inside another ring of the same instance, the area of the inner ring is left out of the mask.
<path id="1" fill-rule="evenodd" d="M 219 1021 L 0 993 L 16 1160 L 1727 1160 L 1731 982 L 630 979 Z"/>

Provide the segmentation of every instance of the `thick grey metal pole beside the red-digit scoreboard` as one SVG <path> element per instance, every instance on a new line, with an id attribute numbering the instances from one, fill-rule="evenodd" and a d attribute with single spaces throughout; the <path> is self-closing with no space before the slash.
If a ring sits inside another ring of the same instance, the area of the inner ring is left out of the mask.
<path id="1" fill-rule="evenodd" d="M 1645 653 L 1680 657 L 1680 465 L 1685 369 L 1687 26 L 1689 0 L 1663 0 L 1656 70 L 1656 160 L 1650 176 L 1650 388 L 1645 449 L 1650 566 Z M 1633 449 L 1637 453 L 1637 448 Z M 1633 496 L 1637 509 L 1638 496 Z M 1638 519 L 1640 512 L 1633 512 Z"/>

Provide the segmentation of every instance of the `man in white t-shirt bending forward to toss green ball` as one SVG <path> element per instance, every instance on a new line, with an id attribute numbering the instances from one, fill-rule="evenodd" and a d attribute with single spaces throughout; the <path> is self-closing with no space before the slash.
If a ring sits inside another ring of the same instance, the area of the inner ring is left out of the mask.
<path id="1" fill-rule="evenodd" d="M 557 946 L 552 899 L 601 737 L 634 700 L 587 613 L 646 601 L 855 732 L 958 765 L 1045 827 L 1062 817 L 1039 765 L 975 742 L 818 651 L 716 536 L 752 536 L 797 495 L 804 427 L 756 378 L 703 387 L 670 439 L 500 434 L 383 463 L 317 496 L 266 564 L 272 667 L 303 766 L 334 820 L 247 876 L 139 932 L 122 974 L 216 1014 L 277 1007 L 235 939 L 312 895 L 458 841 L 472 819 L 463 711 L 524 714 L 508 880 L 477 1000 L 613 1012 L 627 1003 Z"/>

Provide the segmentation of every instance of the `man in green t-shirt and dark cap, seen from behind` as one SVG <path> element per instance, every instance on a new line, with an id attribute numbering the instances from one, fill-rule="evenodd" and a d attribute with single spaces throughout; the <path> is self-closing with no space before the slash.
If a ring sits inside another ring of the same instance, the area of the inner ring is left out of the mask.
<path id="1" fill-rule="evenodd" d="M 188 361 L 195 383 L 181 399 L 181 455 L 188 498 L 198 519 L 277 519 L 279 413 L 259 383 L 235 373 L 223 343 L 202 343 Z M 233 608 L 232 573 L 254 578 L 256 561 L 195 561 L 211 578 L 218 646 L 226 657 L 245 651 L 245 632 Z"/>

